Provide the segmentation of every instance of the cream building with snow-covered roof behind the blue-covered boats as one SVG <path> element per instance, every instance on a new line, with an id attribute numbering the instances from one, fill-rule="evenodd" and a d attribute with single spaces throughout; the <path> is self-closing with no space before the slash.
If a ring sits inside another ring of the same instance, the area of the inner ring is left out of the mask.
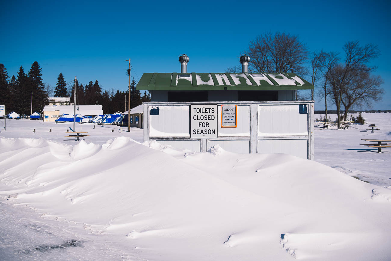
<path id="1" fill-rule="evenodd" d="M 46 105 L 43 108 L 43 121 L 54 122 L 62 114 L 73 114 L 73 105 Z M 77 105 L 76 114 L 96 116 L 103 114 L 102 105 Z"/>

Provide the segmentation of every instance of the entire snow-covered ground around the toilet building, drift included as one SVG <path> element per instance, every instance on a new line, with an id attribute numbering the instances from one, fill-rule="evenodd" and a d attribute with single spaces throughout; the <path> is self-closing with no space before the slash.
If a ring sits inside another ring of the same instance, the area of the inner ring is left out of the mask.
<path id="1" fill-rule="evenodd" d="M 72 123 L 9 120 L 0 259 L 389 260 L 391 152 L 358 143 L 390 138 L 391 114 L 363 116 L 380 130 L 316 128 L 316 161 L 181 151 L 90 123 L 76 142 Z"/>

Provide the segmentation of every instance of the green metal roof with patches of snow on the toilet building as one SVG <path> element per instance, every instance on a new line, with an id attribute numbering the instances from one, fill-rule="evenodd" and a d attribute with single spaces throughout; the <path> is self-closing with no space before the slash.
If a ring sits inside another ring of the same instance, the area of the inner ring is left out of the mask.
<path id="1" fill-rule="evenodd" d="M 139 90 L 297 90 L 314 86 L 295 73 L 144 73 Z"/>

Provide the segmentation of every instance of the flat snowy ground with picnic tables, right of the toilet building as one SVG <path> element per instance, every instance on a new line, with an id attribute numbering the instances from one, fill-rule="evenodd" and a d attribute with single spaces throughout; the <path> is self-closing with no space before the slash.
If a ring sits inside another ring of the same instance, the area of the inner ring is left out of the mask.
<path id="1" fill-rule="evenodd" d="M 391 188 L 391 148 L 382 148 L 383 153 L 377 153 L 377 148 L 359 145 L 371 143 L 361 139 L 391 139 L 391 113 L 363 113 L 362 116 L 366 124 L 353 125 L 348 130 L 315 127 L 315 160 L 371 184 Z M 321 118 L 317 114 L 315 117 Z M 335 120 L 337 114 L 330 114 L 330 118 Z M 380 130 L 373 133 L 366 130 L 369 124 L 376 124 Z"/>

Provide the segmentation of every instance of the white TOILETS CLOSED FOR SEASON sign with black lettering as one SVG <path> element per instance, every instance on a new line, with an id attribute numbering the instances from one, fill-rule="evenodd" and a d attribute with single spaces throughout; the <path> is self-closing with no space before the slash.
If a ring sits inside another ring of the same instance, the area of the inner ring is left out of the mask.
<path id="1" fill-rule="evenodd" d="M 190 104 L 190 138 L 217 138 L 217 104 Z"/>

